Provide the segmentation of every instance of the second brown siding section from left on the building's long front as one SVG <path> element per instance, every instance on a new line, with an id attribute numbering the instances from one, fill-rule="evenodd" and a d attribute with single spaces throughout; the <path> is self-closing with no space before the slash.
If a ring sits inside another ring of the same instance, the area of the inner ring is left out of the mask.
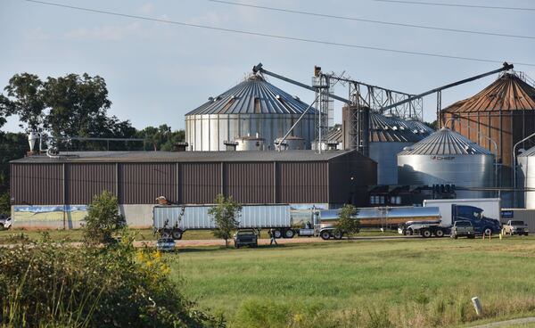
<path id="1" fill-rule="evenodd" d="M 87 204 L 107 190 L 117 195 L 113 163 L 71 163 L 65 166 L 67 204 Z"/>

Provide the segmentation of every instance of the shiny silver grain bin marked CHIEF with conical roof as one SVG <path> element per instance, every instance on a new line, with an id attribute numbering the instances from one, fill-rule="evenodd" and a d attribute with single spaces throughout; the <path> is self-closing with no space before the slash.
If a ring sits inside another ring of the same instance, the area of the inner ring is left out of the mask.
<path id="1" fill-rule="evenodd" d="M 458 189 L 494 186 L 494 155 L 446 127 L 399 152 L 398 168 L 399 184 L 455 184 L 457 198 L 490 197 Z"/>

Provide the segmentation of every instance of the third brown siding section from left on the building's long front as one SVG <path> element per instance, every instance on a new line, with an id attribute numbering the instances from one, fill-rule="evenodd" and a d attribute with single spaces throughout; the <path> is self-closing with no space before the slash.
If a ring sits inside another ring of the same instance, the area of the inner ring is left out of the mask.
<path id="1" fill-rule="evenodd" d="M 164 196 L 177 201 L 177 175 L 174 163 L 120 163 L 119 203 L 153 204 Z"/>

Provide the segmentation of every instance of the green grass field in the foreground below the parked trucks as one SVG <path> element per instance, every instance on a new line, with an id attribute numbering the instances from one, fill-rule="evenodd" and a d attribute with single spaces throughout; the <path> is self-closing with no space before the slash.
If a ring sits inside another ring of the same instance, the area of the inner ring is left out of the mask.
<path id="1" fill-rule="evenodd" d="M 183 249 L 169 262 L 185 295 L 236 327 L 463 326 L 535 316 L 531 237 Z"/>

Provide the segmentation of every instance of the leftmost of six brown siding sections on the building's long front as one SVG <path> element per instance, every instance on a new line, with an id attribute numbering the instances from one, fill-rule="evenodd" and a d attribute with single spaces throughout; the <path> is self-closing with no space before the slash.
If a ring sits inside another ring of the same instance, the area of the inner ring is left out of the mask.
<path id="1" fill-rule="evenodd" d="M 62 164 L 11 164 L 13 205 L 63 203 Z"/>

